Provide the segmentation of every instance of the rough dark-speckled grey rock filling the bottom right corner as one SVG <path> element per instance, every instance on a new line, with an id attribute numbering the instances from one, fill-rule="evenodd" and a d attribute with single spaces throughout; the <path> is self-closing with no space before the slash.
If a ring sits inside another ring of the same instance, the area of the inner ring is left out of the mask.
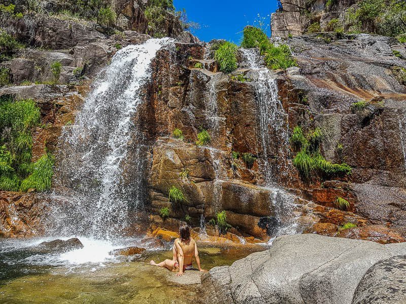
<path id="1" fill-rule="evenodd" d="M 406 256 L 394 256 L 371 267 L 359 282 L 353 304 L 406 303 Z"/>

